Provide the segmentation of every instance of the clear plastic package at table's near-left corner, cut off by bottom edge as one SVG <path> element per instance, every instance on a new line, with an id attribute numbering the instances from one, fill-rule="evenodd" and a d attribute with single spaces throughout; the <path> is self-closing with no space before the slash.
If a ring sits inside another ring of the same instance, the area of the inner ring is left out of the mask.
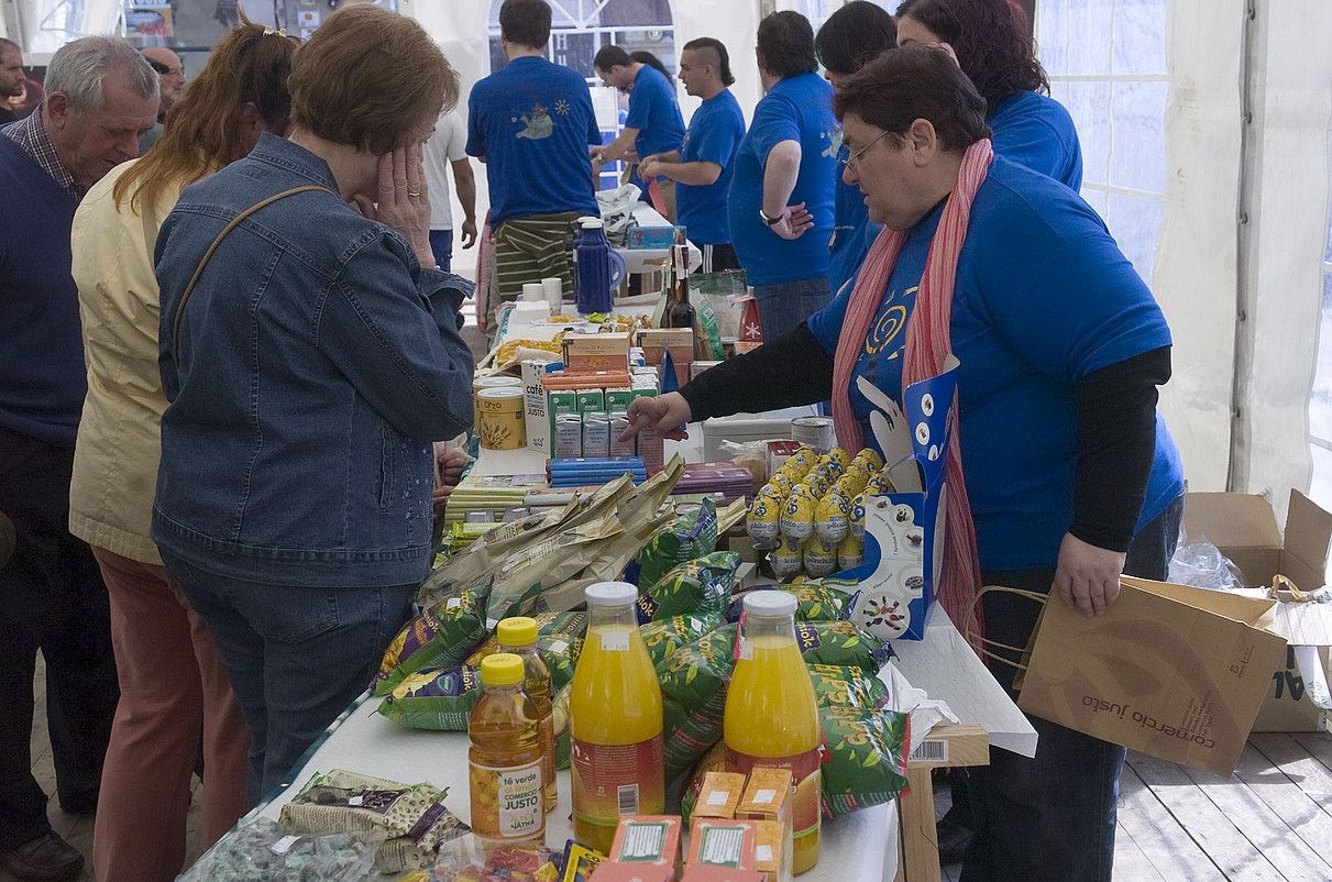
<path id="1" fill-rule="evenodd" d="M 360 882 L 373 878 L 382 833 L 292 835 L 268 818 L 237 827 L 196 861 L 178 882 Z"/>

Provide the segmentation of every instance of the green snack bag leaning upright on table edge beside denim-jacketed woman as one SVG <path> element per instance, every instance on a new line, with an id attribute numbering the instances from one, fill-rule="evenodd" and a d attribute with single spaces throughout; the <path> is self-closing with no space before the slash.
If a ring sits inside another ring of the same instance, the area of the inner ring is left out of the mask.
<path id="1" fill-rule="evenodd" d="M 460 665 L 486 636 L 480 609 L 484 604 L 484 593 L 464 589 L 408 622 L 384 650 L 372 682 L 374 694 L 389 694 L 418 670 Z"/>

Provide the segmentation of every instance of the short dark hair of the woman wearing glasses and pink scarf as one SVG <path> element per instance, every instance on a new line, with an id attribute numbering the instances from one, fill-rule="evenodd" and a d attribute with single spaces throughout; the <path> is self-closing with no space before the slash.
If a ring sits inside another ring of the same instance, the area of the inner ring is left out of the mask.
<path id="1" fill-rule="evenodd" d="M 983 137 L 986 100 L 942 49 L 890 49 L 842 80 L 832 95 L 836 119 L 855 113 L 887 132 L 894 147 L 916 120 L 934 125 L 943 149 L 966 149 Z"/>

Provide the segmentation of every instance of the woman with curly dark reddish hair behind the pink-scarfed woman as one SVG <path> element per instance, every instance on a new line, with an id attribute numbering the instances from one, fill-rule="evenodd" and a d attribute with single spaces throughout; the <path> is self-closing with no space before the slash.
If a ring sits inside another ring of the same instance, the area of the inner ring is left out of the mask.
<path id="1" fill-rule="evenodd" d="M 903 0 L 898 45 L 947 43 L 986 100 L 995 153 L 1082 188 L 1082 147 L 1008 0 Z"/>

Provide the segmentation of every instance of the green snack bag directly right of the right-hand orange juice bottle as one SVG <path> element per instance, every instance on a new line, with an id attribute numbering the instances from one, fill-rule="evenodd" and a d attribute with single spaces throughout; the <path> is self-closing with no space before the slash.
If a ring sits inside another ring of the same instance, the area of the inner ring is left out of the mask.
<path id="1" fill-rule="evenodd" d="M 894 710 L 821 707 L 823 814 L 836 818 L 896 798 L 907 786 L 910 718 Z"/>

